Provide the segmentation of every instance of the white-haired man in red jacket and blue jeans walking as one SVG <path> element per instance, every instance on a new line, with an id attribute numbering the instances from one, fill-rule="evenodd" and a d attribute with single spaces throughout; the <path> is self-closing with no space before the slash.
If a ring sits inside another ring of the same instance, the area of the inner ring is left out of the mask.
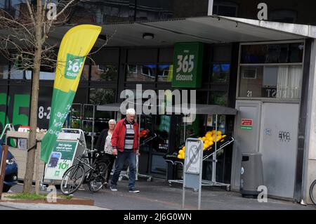
<path id="1" fill-rule="evenodd" d="M 117 180 L 119 180 L 119 174 L 127 160 L 129 162 L 129 192 L 139 192 L 135 188 L 136 155 L 139 154 L 138 123 L 134 121 L 135 117 L 136 112 L 133 108 L 126 110 L 126 118 L 117 122 L 112 134 L 113 154 L 117 154 L 117 162 L 110 186 L 112 191 L 117 191 Z"/>

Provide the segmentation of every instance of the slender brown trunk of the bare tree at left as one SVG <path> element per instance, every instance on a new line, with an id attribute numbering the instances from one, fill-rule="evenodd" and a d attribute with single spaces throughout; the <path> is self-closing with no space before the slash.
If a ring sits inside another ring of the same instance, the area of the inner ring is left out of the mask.
<path id="1" fill-rule="evenodd" d="M 31 114 L 29 119 L 29 142 L 28 148 L 32 148 L 27 152 L 27 165 L 24 178 L 23 192 L 29 193 L 32 188 L 32 180 L 34 173 L 35 149 L 37 147 L 37 107 L 39 102 L 39 72 L 41 67 L 41 0 L 37 0 L 37 18 L 35 27 L 36 48 L 34 51 L 34 68 L 32 74 L 32 95 L 31 95 Z M 37 149 L 40 150 L 40 149 Z M 39 167 L 39 166 L 37 166 Z"/>

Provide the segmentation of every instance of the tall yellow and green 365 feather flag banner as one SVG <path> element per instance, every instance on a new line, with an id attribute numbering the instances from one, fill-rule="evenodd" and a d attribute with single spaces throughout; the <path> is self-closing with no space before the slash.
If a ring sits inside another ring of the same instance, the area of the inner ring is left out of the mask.
<path id="1" fill-rule="evenodd" d="M 96 43 L 100 32 L 101 27 L 79 25 L 70 29 L 62 38 L 55 70 L 49 129 L 41 141 L 41 160 L 46 163 L 51 156 L 67 114 L 70 112 L 86 55 Z"/>

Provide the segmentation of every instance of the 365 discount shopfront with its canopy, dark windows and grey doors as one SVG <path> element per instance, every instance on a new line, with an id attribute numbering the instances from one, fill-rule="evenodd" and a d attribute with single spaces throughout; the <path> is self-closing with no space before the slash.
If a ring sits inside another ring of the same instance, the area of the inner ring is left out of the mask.
<path id="1" fill-rule="evenodd" d="M 74 108 L 79 109 L 73 111 L 70 127 L 79 125 L 86 133 L 91 132 L 91 115 L 84 112 L 84 104 L 119 104 L 123 100 L 121 92 L 136 91 L 139 84 L 143 91 L 157 93 L 159 90 L 195 90 L 197 104 L 223 105 L 238 110 L 237 117 L 218 117 L 220 131 L 234 136 L 235 144 L 218 156 L 216 180 L 230 183 L 232 190 L 239 190 L 242 152 L 261 152 L 268 194 L 296 201 L 305 199 L 303 188 L 307 184 L 303 178 L 303 163 L 306 160 L 303 158 L 306 154 L 301 139 L 307 134 L 305 117 L 310 95 L 306 86 L 314 76 L 310 67 L 312 38 L 316 37 L 314 27 L 204 16 L 116 23 L 103 25 L 103 29 L 103 34 L 112 39 L 105 49 L 92 56 L 93 60 L 86 61 L 74 99 L 77 104 Z M 56 29 L 55 37 L 62 37 L 64 32 L 65 27 Z M 145 39 L 144 34 L 152 39 Z M 201 83 L 191 88 L 175 87 L 172 81 L 176 65 L 174 46 L 190 42 L 204 46 L 199 71 Z M 99 40 L 96 46 L 103 43 Z M 0 69 L 3 71 L 1 129 L 8 123 L 27 125 L 32 76 L 16 70 L 4 58 Z M 40 129 L 48 128 L 53 77 L 52 71 L 41 73 Z M 115 110 L 96 110 L 95 115 L 96 136 L 107 127 L 109 119 L 118 118 Z M 74 118 L 80 122 L 74 122 Z M 184 134 L 181 119 L 176 114 L 140 117 L 141 126 L 152 129 L 158 136 L 141 148 L 141 174 L 178 178 L 178 171 L 166 164 L 164 154 L 175 150 L 185 137 L 202 136 L 214 128 L 215 119 L 197 115 Z M 251 129 L 242 129 L 244 120 L 251 121 Z M 91 135 L 86 138 L 89 141 Z M 211 180 L 211 162 L 204 162 L 203 170 L 203 178 Z"/>

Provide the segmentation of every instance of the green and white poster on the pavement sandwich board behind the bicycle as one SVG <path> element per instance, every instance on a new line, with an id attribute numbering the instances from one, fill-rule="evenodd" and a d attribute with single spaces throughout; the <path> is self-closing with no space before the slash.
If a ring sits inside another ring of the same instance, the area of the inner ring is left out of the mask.
<path id="1" fill-rule="evenodd" d="M 77 142 L 57 141 L 46 165 L 45 179 L 61 180 L 65 171 L 72 166 Z"/>

